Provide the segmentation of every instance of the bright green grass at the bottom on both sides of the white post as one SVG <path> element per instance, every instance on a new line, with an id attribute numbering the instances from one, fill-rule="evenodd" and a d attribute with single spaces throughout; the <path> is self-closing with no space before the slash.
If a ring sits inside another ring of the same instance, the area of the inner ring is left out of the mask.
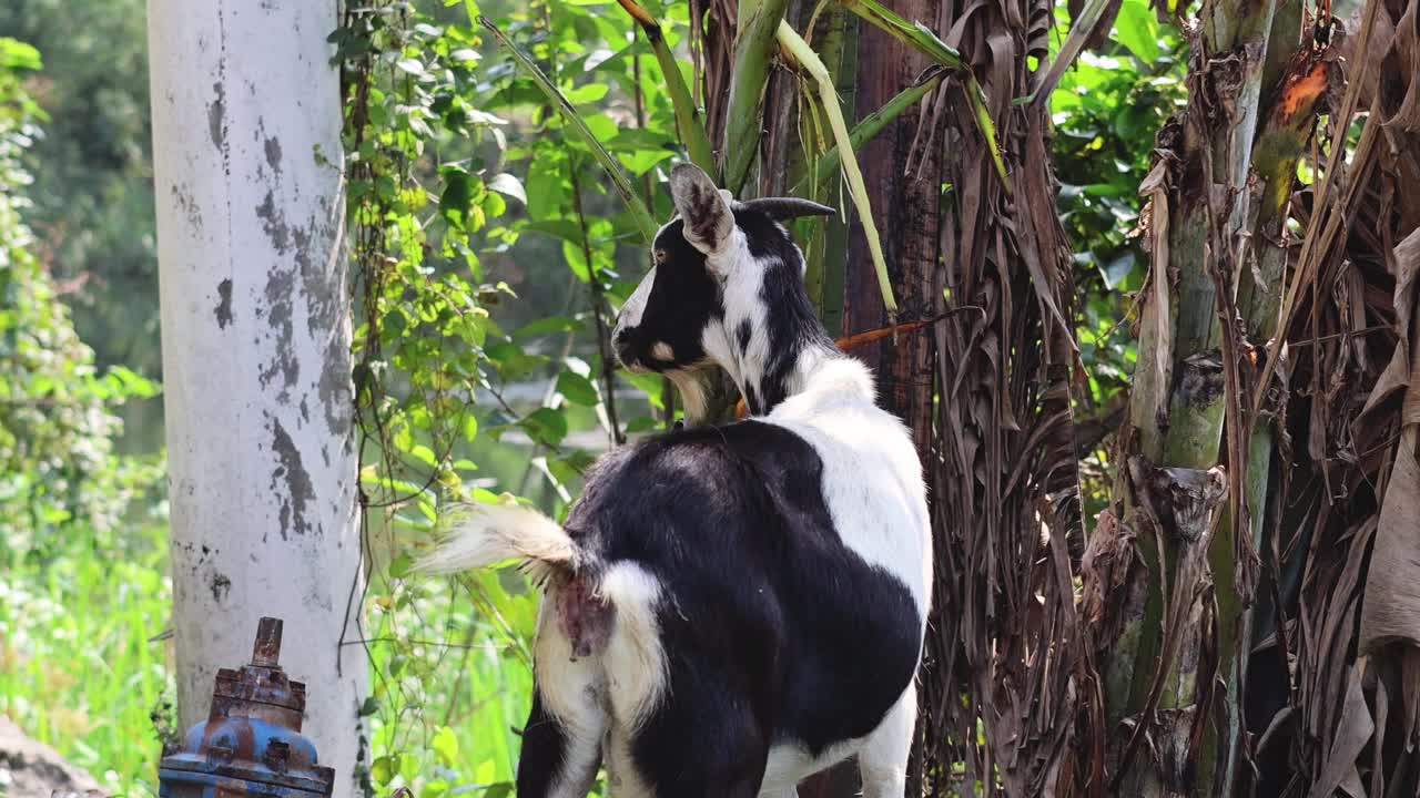
<path id="1" fill-rule="evenodd" d="M 160 741 L 152 716 L 170 717 L 175 690 L 172 640 L 162 635 L 172 611 L 168 531 L 151 523 L 116 542 L 71 535 L 44 558 L 0 554 L 9 557 L 0 561 L 0 713 L 115 798 L 153 797 Z M 410 785 L 419 798 L 457 788 L 476 797 L 513 780 L 534 603 L 521 578 L 501 579 L 372 585 L 364 645 L 376 795 Z"/>

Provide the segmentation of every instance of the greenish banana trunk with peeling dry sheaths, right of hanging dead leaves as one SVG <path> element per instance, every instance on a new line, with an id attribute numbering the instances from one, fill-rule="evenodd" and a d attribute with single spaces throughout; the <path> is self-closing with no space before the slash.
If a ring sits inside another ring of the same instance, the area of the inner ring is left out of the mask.
<path id="1" fill-rule="evenodd" d="M 1120 598 L 1096 628 L 1120 794 L 1228 795 L 1241 771 L 1272 439 L 1240 375 L 1277 332 L 1285 200 L 1315 118 L 1316 92 L 1284 88 L 1311 74 L 1295 6 L 1204 3 L 1189 108 L 1140 187 L 1153 270 L 1109 541 L 1092 541 L 1129 551 L 1093 574 Z"/>

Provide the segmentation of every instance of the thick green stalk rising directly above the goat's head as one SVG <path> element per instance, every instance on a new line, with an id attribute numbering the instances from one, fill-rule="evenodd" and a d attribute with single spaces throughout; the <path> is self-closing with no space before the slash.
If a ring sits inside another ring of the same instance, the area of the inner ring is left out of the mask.
<path id="1" fill-rule="evenodd" d="M 730 109 L 724 126 L 724 187 L 736 196 L 750 177 L 754 156 L 760 152 L 764 119 L 764 87 L 768 85 L 774 38 L 784 21 L 788 0 L 741 0 L 740 30 L 734 38 L 734 65 L 730 70 Z"/>

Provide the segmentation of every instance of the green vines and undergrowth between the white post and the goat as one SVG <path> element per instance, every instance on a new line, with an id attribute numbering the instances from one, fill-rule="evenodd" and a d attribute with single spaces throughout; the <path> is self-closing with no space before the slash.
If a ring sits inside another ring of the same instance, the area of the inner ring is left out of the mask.
<path id="1" fill-rule="evenodd" d="M 483 11 L 508 45 L 479 26 Z M 608 352 L 645 250 L 591 149 L 669 213 L 653 186 L 677 148 L 655 61 L 629 17 L 555 0 L 494 11 L 376 0 L 351 4 L 331 35 L 371 565 L 365 784 L 382 794 L 511 788 L 534 602 L 517 572 L 406 579 L 440 511 L 511 493 L 562 513 L 596 450 L 669 417 L 660 382 L 618 373 Z M 595 142 L 562 135 L 568 118 L 507 47 Z"/>

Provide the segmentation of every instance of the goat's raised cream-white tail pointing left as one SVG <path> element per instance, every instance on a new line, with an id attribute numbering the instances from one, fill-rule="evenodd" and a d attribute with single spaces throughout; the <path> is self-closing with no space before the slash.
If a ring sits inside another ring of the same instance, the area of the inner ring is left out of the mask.
<path id="1" fill-rule="evenodd" d="M 557 521 L 514 504 L 469 504 L 459 511 L 450 532 L 415 559 L 420 574 L 453 574 L 518 561 L 534 581 L 557 571 L 572 571 L 582 552 Z"/>

